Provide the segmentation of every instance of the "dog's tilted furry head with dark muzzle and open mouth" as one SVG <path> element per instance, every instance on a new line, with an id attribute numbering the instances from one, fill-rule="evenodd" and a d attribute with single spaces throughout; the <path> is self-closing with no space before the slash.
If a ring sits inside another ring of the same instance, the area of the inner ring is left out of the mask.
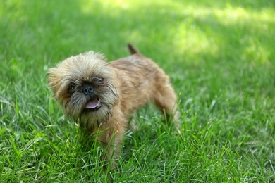
<path id="1" fill-rule="evenodd" d="M 49 69 L 49 87 L 67 115 L 82 127 L 108 120 L 117 103 L 106 58 L 93 51 L 73 56 Z"/>

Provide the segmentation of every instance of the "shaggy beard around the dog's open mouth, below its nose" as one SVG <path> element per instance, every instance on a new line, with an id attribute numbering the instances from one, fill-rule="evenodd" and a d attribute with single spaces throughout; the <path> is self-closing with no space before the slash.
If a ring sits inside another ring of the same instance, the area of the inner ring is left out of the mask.
<path id="1" fill-rule="evenodd" d="M 106 84 L 90 95 L 75 92 L 65 103 L 65 111 L 69 117 L 80 123 L 80 127 L 92 129 L 94 125 L 106 122 L 111 117 L 111 108 L 116 104 L 116 88 Z"/>

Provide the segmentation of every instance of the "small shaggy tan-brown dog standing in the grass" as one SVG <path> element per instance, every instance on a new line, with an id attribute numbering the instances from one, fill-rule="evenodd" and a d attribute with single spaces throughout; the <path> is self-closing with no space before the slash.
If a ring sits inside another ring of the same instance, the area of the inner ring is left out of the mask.
<path id="1" fill-rule="evenodd" d="M 177 118 L 177 96 L 169 77 L 128 45 L 131 56 L 110 63 L 90 51 L 49 69 L 49 87 L 65 113 L 106 149 L 104 160 L 117 159 L 128 117 L 152 101 L 170 119 Z M 116 167 L 112 161 L 111 168 Z"/>

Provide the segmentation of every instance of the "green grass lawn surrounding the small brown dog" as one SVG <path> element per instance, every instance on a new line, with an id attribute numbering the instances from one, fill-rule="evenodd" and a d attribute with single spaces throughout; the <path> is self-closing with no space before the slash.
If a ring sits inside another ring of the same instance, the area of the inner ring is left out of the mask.
<path id="1" fill-rule="evenodd" d="M 20 1 L 0 6 L 0 179 L 107 182 L 47 87 L 47 70 L 133 43 L 170 75 L 181 134 L 146 106 L 114 182 L 275 182 L 275 3 Z"/>

